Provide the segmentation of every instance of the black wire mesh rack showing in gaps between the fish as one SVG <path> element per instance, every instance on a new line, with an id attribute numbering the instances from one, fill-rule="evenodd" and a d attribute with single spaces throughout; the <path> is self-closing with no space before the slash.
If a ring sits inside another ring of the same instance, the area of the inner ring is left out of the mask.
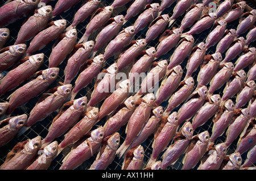
<path id="1" fill-rule="evenodd" d="M 100 7 L 104 7 L 104 6 L 109 6 L 111 5 L 113 1 L 102 1 L 101 2 L 101 5 Z M 159 0 L 155 0 L 155 1 L 152 1 L 152 3 L 155 3 L 155 2 L 158 2 L 160 4 L 161 1 Z M 200 2 L 200 1 L 199 1 Z M 55 6 L 55 3 L 56 1 L 52 1 L 49 3 L 49 5 L 52 5 L 52 7 Z M 63 12 L 61 13 L 60 15 L 56 16 L 55 18 L 53 18 L 53 20 L 57 20 L 57 19 L 66 19 L 68 24 L 67 24 L 67 27 L 72 23 L 72 19 L 73 19 L 73 15 L 75 15 L 76 11 L 79 9 L 79 7 L 82 5 L 82 2 L 80 3 L 77 3 L 76 6 L 72 7 L 72 9 L 68 10 L 67 12 Z M 119 15 L 119 14 L 123 14 L 125 15 L 126 14 L 126 11 L 127 9 L 129 8 L 129 5 L 130 3 L 127 3 L 127 5 L 125 6 L 122 6 L 122 7 L 118 7 L 117 9 L 115 9 L 113 11 L 113 16 L 116 16 L 116 15 Z M 172 15 L 172 10 L 174 9 L 176 5 L 176 2 L 168 7 L 168 9 L 164 10 L 162 14 L 169 14 L 170 16 Z M 254 7 L 254 5 L 250 2 L 250 1 L 247 1 L 247 5 L 249 5 L 250 7 Z M 209 8 L 207 7 L 203 13 L 207 13 L 209 10 Z M 177 18 L 174 22 L 174 24 L 172 25 L 172 27 L 179 27 L 180 24 L 181 24 L 181 20 L 183 19 L 185 14 L 181 15 L 179 18 Z M 134 24 L 135 20 L 138 18 L 138 15 L 133 17 L 132 19 L 130 19 L 124 26 L 123 28 L 125 27 L 128 27 L 128 26 L 131 26 Z M 25 18 L 23 19 L 20 19 L 18 20 L 16 23 L 13 23 L 11 24 L 10 26 L 8 26 L 7 28 L 10 29 L 10 39 L 9 41 L 6 43 L 6 47 L 9 46 L 9 45 L 13 45 L 15 43 L 15 40 L 16 40 L 16 36 L 18 35 L 18 31 L 19 31 L 19 28 L 20 26 L 22 25 L 22 22 Z M 89 20 L 90 18 L 86 19 L 84 22 L 80 23 L 76 28 L 77 28 L 77 33 L 78 33 L 78 37 L 82 37 L 82 35 L 84 34 L 85 32 L 85 27 L 86 27 L 86 24 L 89 23 Z M 238 26 L 238 21 L 236 22 L 233 22 L 233 23 L 229 23 L 228 26 L 227 26 L 227 29 L 236 29 L 236 27 Z M 142 39 L 142 38 L 145 38 L 146 37 L 146 32 L 147 32 L 148 28 L 144 28 L 144 30 L 138 32 L 134 39 L 137 40 L 137 39 Z M 199 35 L 193 35 L 193 37 L 195 38 L 195 44 L 198 44 L 202 41 L 205 42 L 205 39 L 207 38 L 207 35 L 208 33 L 210 32 L 210 28 L 202 33 L 199 33 Z M 185 31 L 188 31 L 185 30 Z M 185 32 L 184 31 L 184 32 Z M 98 32 L 100 32 L 100 30 L 96 31 L 93 33 L 92 36 L 89 37 L 89 40 L 95 40 Z M 248 31 L 247 31 L 248 32 Z M 247 33 L 246 32 L 246 33 Z M 246 36 L 246 33 L 243 33 L 241 36 L 245 37 Z M 38 52 L 35 52 L 34 54 L 36 53 L 41 53 L 43 52 L 45 54 L 45 58 L 44 58 L 44 64 L 40 67 L 39 70 L 44 70 L 44 69 L 47 69 L 48 68 L 48 58 L 49 58 L 49 55 L 51 54 L 51 49 L 52 49 L 52 45 L 53 45 L 54 41 L 50 44 L 47 45 L 47 47 L 45 47 L 44 49 L 38 51 Z M 29 45 L 29 42 L 27 43 L 27 45 Z M 151 41 L 150 43 L 148 43 L 147 47 L 157 47 L 158 46 L 158 39 L 154 40 L 154 41 Z M 255 43 L 252 43 L 251 44 L 251 47 L 255 47 Z M 97 54 L 99 53 L 104 53 L 104 49 L 105 47 L 103 47 L 101 50 L 99 50 L 97 52 Z M 216 45 L 209 48 L 207 50 L 207 54 L 212 54 L 215 52 L 215 49 L 216 49 Z M 174 52 L 175 48 L 173 48 L 170 52 L 168 52 L 167 54 L 164 54 L 163 56 L 161 56 L 159 58 L 160 59 L 166 59 L 166 60 L 169 60 L 169 58 L 171 57 L 172 53 Z M 224 52 L 225 53 L 225 52 Z M 222 54 L 222 56 L 224 56 L 225 54 Z M 182 66 L 183 70 L 184 70 L 184 73 L 183 73 L 183 77 L 182 79 L 185 77 L 185 73 L 186 73 L 186 69 L 185 69 L 185 66 L 187 64 L 187 59 L 186 58 L 180 65 Z M 59 77 L 57 78 L 57 80 L 49 87 L 55 87 L 58 85 L 58 82 L 63 82 L 64 81 L 64 69 L 65 69 L 65 66 L 67 65 L 67 60 L 68 60 L 68 57 L 65 59 L 65 61 L 63 61 L 63 63 L 61 65 L 59 65 L 59 68 L 60 68 L 60 73 L 59 73 Z M 105 62 L 105 65 L 104 65 L 104 68 L 108 68 L 109 65 L 112 65 L 114 61 L 117 60 L 117 55 L 112 57 L 112 58 L 109 58 L 108 61 Z M 232 62 L 235 62 L 237 60 L 237 58 L 235 58 Z M 158 60 L 156 60 L 158 61 Z M 128 73 L 129 70 L 131 69 L 131 65 L 127 66 L 126 68 L 124 68 L 122 71 L 125 72 L 125 73 Z M 199 69 L 197 69 L 193 74 L 192 74 L 192 77 L 196 80 L 196 77 L 197 77 L 197 74 L 199 73 Z M 246 72 L 248 71 L 248 68 L 244 69 Z M 76 78 L 75 78 L 76 79 Z M 71 82 L 72 85 L 74 86 L 75 85 L 75 79 L 73 79 L 73 81 Z M 27 81 L 26 81 L 27 82 Z M 24 82 L 24 83 L 26 83 Z M 24 85 L 24 83 L 22 85 Z M 20 86 L 22 86 L 20 85 Z M 19 86 L 19 87 L 20 87 Z M 93 91 L 93 87 L 94 87 L 94 81 L 92 81 L 92 83 L 90 83 L 87 87 L 85 87 L 83 90 L 81 90 L 79 92 L 79 94 L 76 96 L 76 98 L 79 98 L 81 96 L 88 96 L 88 99 L 90 98 L 90 94 L 92 93 Z M 222 91 L 224 90 L 224 86 L 221 87 L 221 89 L 217 90 L 216 91 L 216 94 L 220 94 L 222 96 Z M 13 91 L 11 91 L 13 92 Z M 1 101 L 6 101 L 7 100 L 7 97 L 11 94 L 11 92 L 3 95 L 0 97 Z M 215 92 L 214 92 L 215 93 Z M 13 112 L 13 115 L 20 115 L 20 114 L 23 114 L 23 113 L 26 113 L 28 116 L 30 114 L 30 111 L 32 110 L 32 108 L 35 106 L 36 104 L 36 101 L 38 100 L 39 96 L 32 99 L 30 102 L 28 102 L 27 104 L 25 104 L 24 106 L 16 109 L 14 112 Z M 236 101 L 236 97 L 234 97 L 233 99 L 233 102 Z M 102 103 L 102 102 L 101 102 Z M 96 107 L 100 108 L 100 105 L 101 103 L 99 104 L 96 104 Z M 164 110 L 165 108 L 167 107 L 168 105 L 168 102 L 163 102 L 160 106 L 163 106 Z M 246 105 L 247 106 L 247 105 Z M 246 107 L 245 106 L 245 107 Z M 178 111 L 179 108 L 181 107 L 181 105 L 177 108 L 175 108 L 174 111 Z M 44 119 L 43 121 L 40 121 L 39 123 L 33 125 L 30 129 L 28 129 L 28 131 L 26 131 L 25 133 L 23 133 L 21 136 L 19 137 L 15 137 L 13 140 L 11 140 L 8 144 L 2 146 L 2 148 L 0 148 L 0 164 L 2 164 L 4 161 L 5 161 L 5 158 L 6 158 L 6 155 L 7 153 L 9 153 L 9 151 L 11 149 L 13 149 L 13 147 L 18 143 L 18 142 L 21 142 L 21 141 L 24 141 L 24 140 L 27 140 L 27 138 L 34 138 L 36 136 L 41 136 L 42 138 L 46 137 L 47 133 L 48 133 L 48 128 L 49 126 L 51 125 L 52 123 L 52 119 L 53 117 L 55 117 L 57 115 L 56 112 L 52 113 L 51 116 L 48 116 L 46 117 L 46 119 Z M 104 125 L 106 120 L 108 120 L 108 117 L 105 117 L 104 119 L 100 120 L 97 125 L 95 125 L 93 129 L 97 128 L 98 126 L 100 125 Z M 125 127 L 126 126 L 123 126 L 121 129 L 119 129 L 119 133 L 120 133 L 120 136 L 121 136 L 121 144 L 122 142 L 125 140 L 125 137 L 126 137 L 126 134 L 125 134 Z M 181 127 L 181 126 L 180 126 Z M 201 127 L 197 128 L 193 135 L 196 135 L 196 134 L 199 134 L 203 131 L 208 131 L 209 134 L 212 133 L 212 127 L 213 127 L 213 121 L 210 119 L 207 121 L 207 123 L 205 123 L 204 125 L 202 125 Z M 64 134 L 63 134 L 64 135 Z M 62 140 L 63 140 L 64 136 L 61 136 L 59 138 L 56 138 L 56 140 L 60 143 Z M 225 133 L 219 137 L 216 141 L 215 141 L 215 144 L 219 144 L 221 142 L 224 142 L 225 141 Z M 144 141 L 141 145 L 143 146 L 144 148 L 144 161 L 143 161 L 143 167 L 146 166 L 147 164 L 147 161 L 149 160 L 150 158 L 150 155 L 152 153 L 152 141 L 154 140 L 154 136 L 151 134 L 150 137 L 147 138 L 146 141 Z M 233 142 L 232 145 L 229 146 L 228 148 L 228 153 L 227 155 L 229 154 L 232 154 L 234 152 L 234 150 L 236 149 L 236 143 L 238 141 L 238 138 Z M 171 144 L 171 143 L 170 143 Z M 64 157 L 69 153 L 69 151 L 71 150 L 71 146 L 69 146 L 68 148 L 65 148 L 51 163 L 51 166 L 49 167 L 49 170 L 56 170 L 56 169 L 59 169 L 61 164 L 62 164 L 62 161 L 64 159 Z M 159 155 L 158 159 L 161 158 L 163 152 Z M 96 158 L 96 155 L 97 154 L 94 154 L 93 157 L 89 158 L 87 161 L 85 161 L 84 163 L 82 163 L 82 165 L 80 165 L 79 167 L 77 167 L 78 170 L 84 170 L 84 169 L 89 169 L 90 165 L 93 163 L 93 161 L 95 160 Z M 174 169 L 174 170 L 180 170 L 181 167 L 183 166 L 182 165 L 182 159 L 184 157 L 184 154 L 181 155 L 181 157 L 179 158 L 178 161 L 176 161 L 176 163 L 172 166 L 169 166 L 167 169 Z M 243 161 L 246 159 L 246 153 L 242 154 L 242 159 Z M 118 157 L 115 157 L 114 161 L 108 166 L 107 169 L 109 170 L 120 170 L 121 167 L 122 167 L 122 163 L 123 163 L 123 159 L 122 158 L 118 158 Z M 196 167 L 194 169 L 197 169 L 197 167 L 199 166 L 200 163 L 197 163 Z"/>

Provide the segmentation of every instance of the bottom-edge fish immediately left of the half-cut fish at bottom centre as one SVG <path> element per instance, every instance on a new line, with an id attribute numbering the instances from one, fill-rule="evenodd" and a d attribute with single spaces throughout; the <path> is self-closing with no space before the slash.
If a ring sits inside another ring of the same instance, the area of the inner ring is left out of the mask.
<path id="1" fill-rule="evenodd" d="M 115 153 L 120 143 L 119 133 L 114 133 L 109 139 L 108 143 L 101 148 L 96 160 L 92 163 L 89 170 L 105 170 L 106 167 L 113 162 Z"/>

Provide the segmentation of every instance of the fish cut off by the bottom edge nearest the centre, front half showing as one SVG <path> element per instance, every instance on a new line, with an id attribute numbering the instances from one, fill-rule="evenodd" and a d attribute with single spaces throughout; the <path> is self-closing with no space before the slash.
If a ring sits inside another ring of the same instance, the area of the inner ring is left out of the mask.
<path id="1" fill-rule="evenodd" d="M 144 148 L 139 145 L 137 148 L 130 150 L 123 161 L 122 170 L 141 170 L 144 159 Z"/>

